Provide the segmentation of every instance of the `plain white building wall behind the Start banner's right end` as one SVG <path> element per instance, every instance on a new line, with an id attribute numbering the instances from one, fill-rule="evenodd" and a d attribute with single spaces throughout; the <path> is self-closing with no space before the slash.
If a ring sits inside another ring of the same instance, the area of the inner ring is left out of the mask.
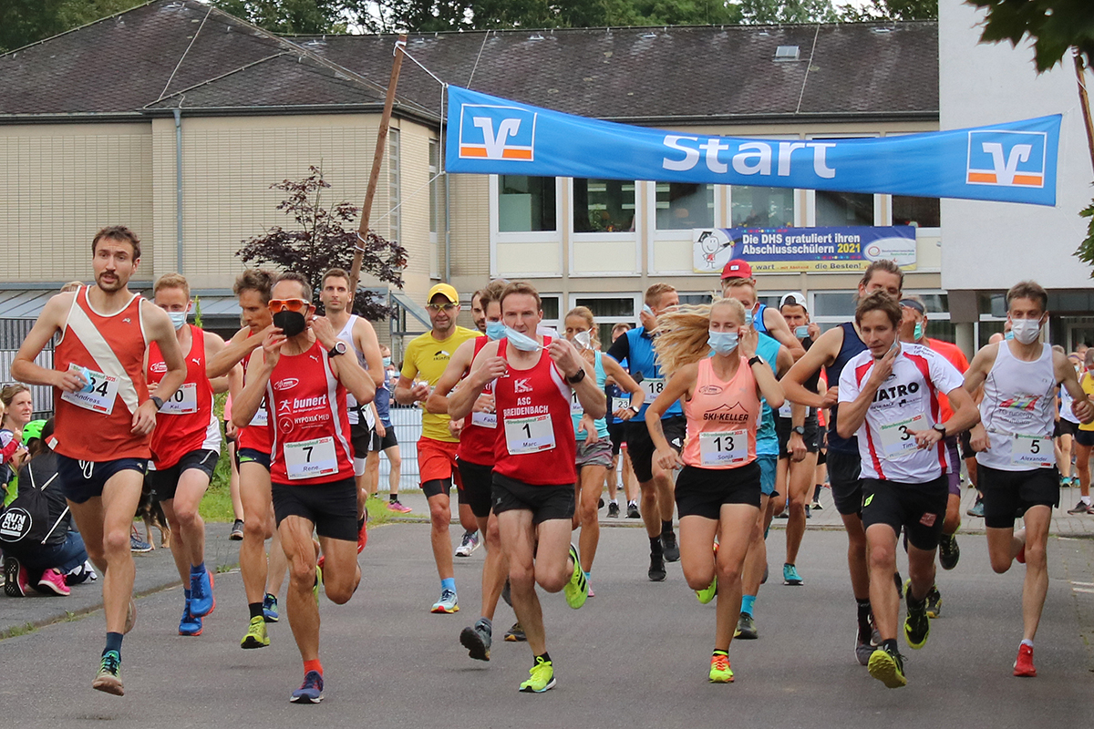
<path id="1" fill-rule="evenodd" d="M 1084 237 L 1079 211 L 1094 197 L 1094 171 L 1070 55 L 1038 77 L 1028 44 L 979 45 L 982 11 L 958 0 L 939 5 L 941 129 L 1063 114 L 1055 208 L 942 201 L 942 287 L 1009 289 L 1022 279 L 1090 286 L 1090 269 L 1071 255 Z M 1086 78 L 1094 91 L 1094 74 Z"/>

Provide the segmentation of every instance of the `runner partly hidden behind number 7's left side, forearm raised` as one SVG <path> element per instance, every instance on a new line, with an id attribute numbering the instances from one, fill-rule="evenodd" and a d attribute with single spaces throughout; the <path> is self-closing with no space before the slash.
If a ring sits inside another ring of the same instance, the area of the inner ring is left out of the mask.
<path id="1" fill-rule="evenodd" d="M 274 329 L 269 310 L 274 274 L 261 269 L 247 269 L 235 279 L 233 292 L 240 302 L 244 326 L 228 345 L 209 361 L 210 378 L 221 377 L 259 349 Z M 238 390 L 232 392 L 233 402 Z M 238 423 L 233 408 L 232 420 Z M 238 428 L 236 459 L 240 468 L 240 501 L 243 502 L 243 541 L 240 543 L 240 575 L 247 598 L 249 614 L 247 632 L 240 640 L 246 649 L 265 648 L 270 644 L 266 623 L 278 621 L 277 593 L 286 571 L 284 551 L 274 528 L 274 505 L 270 499 L 270 432 L 266 408 L 255 409 L 254 418 Z M 266 540 L 270 543 L 269 562 Z"/>

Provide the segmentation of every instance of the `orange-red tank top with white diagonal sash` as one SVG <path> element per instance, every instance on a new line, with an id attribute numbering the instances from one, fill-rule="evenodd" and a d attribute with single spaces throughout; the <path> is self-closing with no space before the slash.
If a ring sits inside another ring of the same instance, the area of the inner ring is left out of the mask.
<path id="1" fill-rule="evenodd" d="M 120 311 L 103 316 L 91 307 L 89 289 L 81 287 L 72 298 L 54 368 L 86 368 L 91 391 L 54 390 L 54 449 L 85 461 L 148 458 L 151 436 L 132 434 L 133 413 L 148 400 L 142 299 L 133 294 Z"/>

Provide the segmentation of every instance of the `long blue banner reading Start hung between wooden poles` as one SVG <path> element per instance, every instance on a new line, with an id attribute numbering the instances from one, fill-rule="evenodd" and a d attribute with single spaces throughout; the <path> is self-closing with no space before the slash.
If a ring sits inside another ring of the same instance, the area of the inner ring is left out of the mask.
<path id="1" fill-rule="evenodd" d="M 450 173 L 755 185 L 1056 204 L 1060 115 L 876 139 L 708 137 L 449 86 Z"/>

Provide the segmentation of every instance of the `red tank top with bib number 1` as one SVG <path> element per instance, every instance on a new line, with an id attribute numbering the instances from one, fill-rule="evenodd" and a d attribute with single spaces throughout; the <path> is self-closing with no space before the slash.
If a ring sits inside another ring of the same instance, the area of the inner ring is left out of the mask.
<path id="1" fill-rule="evenodd" d="M 578 480 L 578 444 L 570 418 L 572 389 L 547 356 L 544 337 L 539 361 L 531 369 L 513 369 L 494 383 L 498 413 L 493 472 L 534 485 L 573 484 Z M 509 340 L 498 342 L 507 356 Z"/>

